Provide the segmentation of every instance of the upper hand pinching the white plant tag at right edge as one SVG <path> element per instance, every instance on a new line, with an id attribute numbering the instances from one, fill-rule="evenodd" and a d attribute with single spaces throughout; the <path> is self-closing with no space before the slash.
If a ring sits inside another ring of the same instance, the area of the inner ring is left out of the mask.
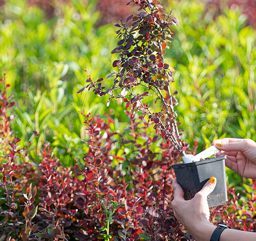
<path id="1" fill-rule="evenodd" d="M 212 145 L 227 155 L 226 166 L 245 178 L 256 178 L 256 142 L 250 139 L 224 138 Z M 218 152 L 216 155 L 221 155 Z"/>

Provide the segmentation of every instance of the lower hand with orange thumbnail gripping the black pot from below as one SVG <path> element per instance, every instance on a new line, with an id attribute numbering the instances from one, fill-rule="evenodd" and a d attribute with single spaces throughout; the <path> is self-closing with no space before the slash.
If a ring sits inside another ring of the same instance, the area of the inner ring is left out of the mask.
<path id="1" fill-rule="evenodd" d="M 175 193 L 172 207 L 174 216 L 197 241 L 210 240 L 211 234 L 216 228 L 209 222 L 210 212 L 207 203 L 207 196 L 215 189 L 215 186 L 216 178 L 212 177 L 191 200 L 186 201 L 181 186 L 176 178 L 173 180 Z M 208 230 L 207 233 L 205 233 L 206 230 Z M 210 236 L 207 238 L 207 235 Z"/>

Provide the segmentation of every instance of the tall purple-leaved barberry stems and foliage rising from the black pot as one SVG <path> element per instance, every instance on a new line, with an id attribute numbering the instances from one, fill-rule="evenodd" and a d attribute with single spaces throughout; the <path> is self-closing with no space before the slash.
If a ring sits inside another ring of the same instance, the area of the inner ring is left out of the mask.
<path id="1" fill-rule="evenodd" d="M 120 38 L 118 47 L 111 53 L 119 53 L 113 67 L 118 68 L 117 73 L 112 73 L 107 78 L 114 77 L 111 88 L 105 90 L 103 78 L 93 81 L 91 76 L 86 80 L 89 84 L 85 88 L 93 89 L 98 96 L 110 95 L 107 106 L 112 99 L 126 102 L 126 109 L 130 107 L 132 112 L 142 111 L 148 115 L 148 119 L 154 123 L 156 133 L 160 132 L 164 140 L 170 141 L 183 156 L 186 145 L 181 141 L 174 107 L 178 104 L 175 95 L 171 93 L 169 84 L 174 81 L 174 68 L 164 63 L 167 43 L 171 42 L 171 25 L 177 26 L 179 21 L 172 17 L 173 10 L 169 14 L 163 13 L 159 0 L 132 0 L 138 6 L 138 14 L 130 15 L 126 22 L 115 24 L 119 27 L 116 31 Z M 136 88 L 136 91 L 135 91 Z M 121 89 L 117 95 L 114 89 Z M 136 93 L 135 93 L 136 92 Z M 127 96 L 128 94 L 128 96 Z M 157 100 L 162 101 L 162 110 L 153 112 L 150 105 L 143 99 L 153 94 Z M 127 97 L 126 97 L 127 96 Z"/>

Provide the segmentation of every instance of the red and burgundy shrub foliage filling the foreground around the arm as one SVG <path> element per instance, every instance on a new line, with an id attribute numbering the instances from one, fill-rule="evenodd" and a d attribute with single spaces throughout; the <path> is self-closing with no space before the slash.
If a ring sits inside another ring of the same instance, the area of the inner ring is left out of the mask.
<path id="1" fill-rule="evenodd" d="M 131 125 L 111 131 L 111 115 L 86 117 L 88 151 L 75 165 L 63 167 L 49 143 L 40 162 L 19 149 L 8 115 L 14 105 L 0 79 L 0 236 L 5 240 L 193 241 L 175 219 L 171 207 L 179 154 L 158 136 L 148 135 L 149 123 L 126 111 Z M 33 132 L 34 136 L 38 134 Z M 243 195 L 229 188 L 229 204 L 212 209 L 211 221 L 255 231 L 256 181 L 248 180 Z M 242 196 L 242 197 L 240 197 Z"/>

